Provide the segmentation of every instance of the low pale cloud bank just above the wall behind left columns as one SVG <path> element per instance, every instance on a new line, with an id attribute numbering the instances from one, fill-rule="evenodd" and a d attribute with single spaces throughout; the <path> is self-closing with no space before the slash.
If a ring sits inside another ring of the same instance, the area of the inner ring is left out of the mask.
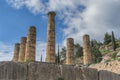
<path id="1" fill-rule="evenodd" d="M 45 61 L 46 43 L 37 41 L 36 45 L 36 61 L 40 61 L 41 54 Z M 0 42 L 0 61 L 11 61 L 14 54 L 14 45 Z"/>

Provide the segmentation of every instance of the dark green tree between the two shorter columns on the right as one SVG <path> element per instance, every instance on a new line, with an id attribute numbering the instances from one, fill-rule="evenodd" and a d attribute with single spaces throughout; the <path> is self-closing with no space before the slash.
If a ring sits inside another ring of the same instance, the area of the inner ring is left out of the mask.
<path id="1" fill-rule="evenodd" d="M 75 51 L 75 58 L 83 56 L 83 48 L 80 46 L 80 44 L 74 45 L 74 51 Z"/>

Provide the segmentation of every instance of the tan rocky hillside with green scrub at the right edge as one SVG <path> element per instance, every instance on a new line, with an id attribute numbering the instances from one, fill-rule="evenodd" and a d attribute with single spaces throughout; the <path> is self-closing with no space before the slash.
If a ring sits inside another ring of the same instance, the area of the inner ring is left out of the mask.
<path id="1" fill-rule="evenodd" d="M 117 41 L 116 43 L 118 44 L 120 41 Z M 100 51 L 102 53 L 102 61 L 97 64 L 92 64 L 89 67 L 120 74 L 120 47 L 113 51 L 110 43 L 101 46 Z"/>

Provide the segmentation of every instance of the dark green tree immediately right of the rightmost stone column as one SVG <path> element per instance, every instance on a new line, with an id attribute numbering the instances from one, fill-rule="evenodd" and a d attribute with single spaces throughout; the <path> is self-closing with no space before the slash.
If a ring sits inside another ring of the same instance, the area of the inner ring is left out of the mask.
<path id="1" fill-rule="evenodd" d="M 102 54 L 99 51 L 99 47 L 99 43 L 96 40 L 91 40 L 92 57 L 94 63 L 98 63 L 102 60 Z"/>

